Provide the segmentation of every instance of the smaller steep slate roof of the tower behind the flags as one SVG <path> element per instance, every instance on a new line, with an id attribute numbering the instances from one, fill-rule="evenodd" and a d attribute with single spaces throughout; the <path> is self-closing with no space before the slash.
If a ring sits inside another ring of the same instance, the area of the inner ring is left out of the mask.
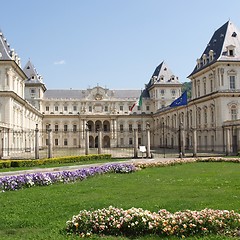
<path id="1" fill-rule="evenodd" d="M 163 61 L 161 62 L 153 72 L 150 81 L 147 84 L 147 89 L 155 84 L 181 84 L 167 64 Z"/>

